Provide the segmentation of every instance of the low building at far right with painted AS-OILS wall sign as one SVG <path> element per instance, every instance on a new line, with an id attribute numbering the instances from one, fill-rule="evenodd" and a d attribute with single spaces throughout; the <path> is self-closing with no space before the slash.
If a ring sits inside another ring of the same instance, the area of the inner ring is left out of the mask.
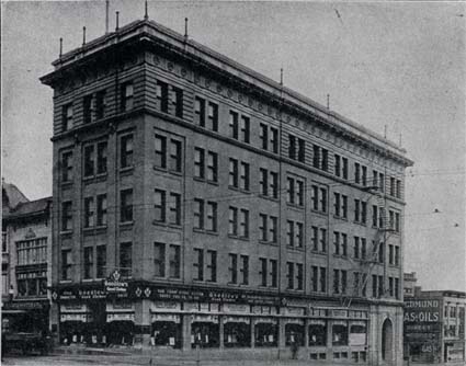
<path id="1" fill-rule="evenodd" d="M 418 290 L 405 300 L 405 354 L 412 361 L 465 361 L 466 294 Z"/>

